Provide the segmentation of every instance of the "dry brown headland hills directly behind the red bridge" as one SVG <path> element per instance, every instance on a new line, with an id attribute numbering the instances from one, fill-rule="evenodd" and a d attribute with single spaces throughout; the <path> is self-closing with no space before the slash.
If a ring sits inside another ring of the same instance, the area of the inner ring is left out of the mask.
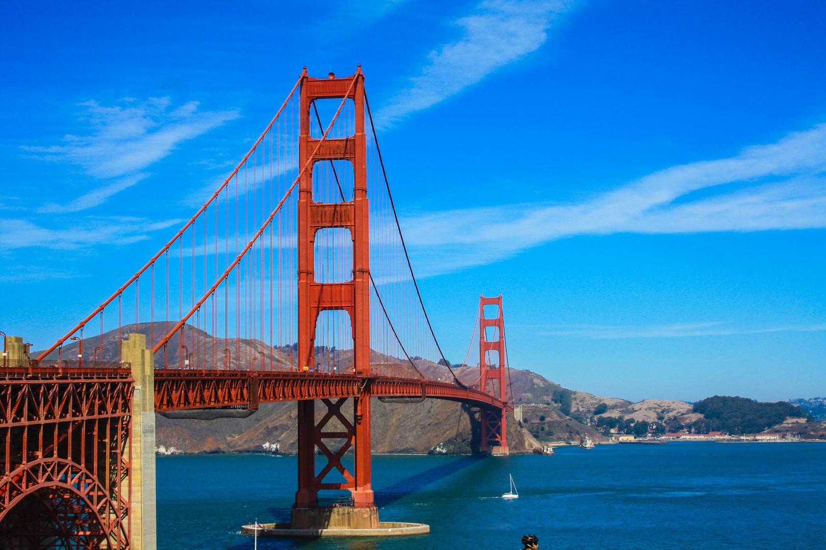
<path id="1" fill-rule="evenodd" d="M 102 336 L 83 339 L 84 360 L 91 360 L 93 350 L 100 346 L 98 360 L 118 360 L 118 342 L 132 332 L 140 332 L 147 337 L 147 343 L 157 343 L 171 327 L 164 322 L 127 325 L 120 331 L 105 332 Z M 287 365 L 295 362 L 295 346 L 269 346 L 257 339 L 224 340 L 211 336 L 205 331 L 187 325 L 183 336 L 174 336 L 165 351 L 159 351 L 155 358 L 156 367 L 168 364 L 171 368 L 183 366 L 183 348 L 188 346 L 193 356 L 193 367 L 211 368 L 212 358 L 223 360 L 225 349 L 229 350 L 231 369 L 260 365 Z M 63 359 L 77 357 L 77 341 L 69 342 L 59 352 Z M 38 353 L 33 354 L 39 355 Z M 50 357 L 56 358 L 55 350 Z M 197 360 L 197 357 L 209 360 Z M 344 370 L 351 363 L 352 350 L 316 349 L 316 360 L 320 369 Z M 390 355 L 371 352 L 373 363 L 391 365 L 404 374 L 413 375 L 413 369 L 406 360 Z M 431 377 L 450 381 L 453 375 L 441 364 L 414 358 L 415 369 Z M 539 374 L 529 370 L 510 369 L 506 393 L 512 394 L 515 405 L 529 408 L 528 420 L 517 422 L 508 417 L 510 449 L 514 452 L 529 452 L 537 440 L 578 440 L 582 435 L 590 435 L 593 440 L 602 440 L 595 430 L 581 424 L 559 411 L 553 403 L 553 394 L 562 390 Z M 458 370 L 458 378 L 463 383 L 472 384 L 479 378 L 478 367 L 463 367 Z M 497 390 L 498 388 L 490 388 Z M 576 393 L 579 394 L 579 393 Z M 589 395 L 582 393 L 582 395 Z M 621 401 L 621 400 L 618 400 Z M 529 403 L 535 403 L 530 405 Z M 427 399 L 424 402 L 384 403 L 373 399 L 373 451 L 376 453 L 450 453 L 469 454 L 478 446 L 479 411 L 460 403 Z M 539 408 L 537 408 L 539 407 Z M 316 415 L 323 411 L 319 406 Z M 217 418 L 211 421 L 194 419 L 169 419 L 157 416 L 156 441 L 159 452 L 182 453 L 226 453 L 226 452 L 271 452 L 275 446 L 282 453 L 296 450 L 296 404 L 265 403 L 247 418 Z M 573 413 L 572 413 L 573 414 Z M 544 420 L 540 421 L 539 418 Z"/>

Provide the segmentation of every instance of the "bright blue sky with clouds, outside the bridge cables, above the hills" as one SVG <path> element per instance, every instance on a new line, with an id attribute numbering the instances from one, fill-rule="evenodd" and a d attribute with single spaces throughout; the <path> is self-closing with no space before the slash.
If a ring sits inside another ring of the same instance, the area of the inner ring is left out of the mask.
<path id="1" fill-rule="evenodd" d="M 826 393 L 824 2 L 7 2 L 0 330 L 50 345 L 362 63 L 446 355 L 638 400 Z"/>

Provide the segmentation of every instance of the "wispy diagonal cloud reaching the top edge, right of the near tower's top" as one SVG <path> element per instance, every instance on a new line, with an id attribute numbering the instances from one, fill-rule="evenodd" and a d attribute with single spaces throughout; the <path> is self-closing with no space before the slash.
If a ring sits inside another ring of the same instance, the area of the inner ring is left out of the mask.
<path id="1" fill-rule="evenodd" d="M 412 86 L 378 110 L 377 125 L 387 127 L 416 110 L 427 109 L 461 92 L 507 63 L 533 52 L 548 39 L 548 28 L 573 0 L 486 0 L 456 24 L 463 37 L 431 52 L 430 63 Z"/>

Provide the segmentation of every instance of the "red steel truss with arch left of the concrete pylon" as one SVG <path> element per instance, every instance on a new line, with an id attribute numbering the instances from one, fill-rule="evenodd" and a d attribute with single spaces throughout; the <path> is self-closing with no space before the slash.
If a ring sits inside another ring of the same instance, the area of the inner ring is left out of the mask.
<path id="1" fill-rule="evenodd" d="M 129 369 L 0 374 L 0 545 L 130 548 Z"/>

